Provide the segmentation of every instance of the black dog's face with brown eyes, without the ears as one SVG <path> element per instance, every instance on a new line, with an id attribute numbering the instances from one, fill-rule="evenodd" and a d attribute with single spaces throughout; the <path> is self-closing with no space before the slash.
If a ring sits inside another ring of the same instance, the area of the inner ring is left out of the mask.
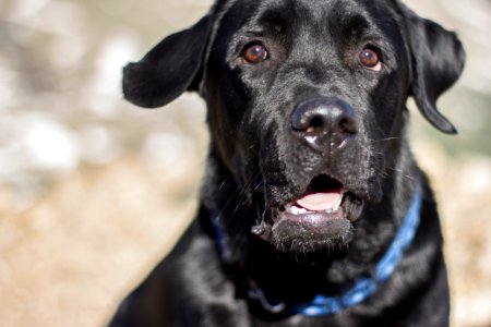
<path id="1" fill-rule="evenodd" d="M 387 19 L 394 9 L 247 5 L 223 16 L 205 72 L 221 159 L 244 183 L 261 173 L 279 249 L 347 240 L 363 204 L 380 199 L 390 146 L 400 137 L 409 53 Z"/>

